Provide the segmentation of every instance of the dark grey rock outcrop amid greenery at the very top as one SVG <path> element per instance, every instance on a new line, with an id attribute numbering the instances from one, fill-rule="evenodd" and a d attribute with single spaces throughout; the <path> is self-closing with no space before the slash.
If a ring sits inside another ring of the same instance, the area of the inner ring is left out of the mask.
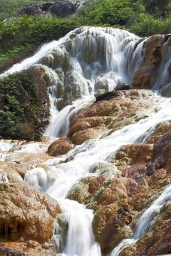
<path id="1" fill-rule="evenodd" d="M 80 4 L 81 1 L 57 1 L 56 3 L 37 4 L 25 7 L 20 11 L 19 16 L 51 13 L 60 18 L 66 18 L 74 14 Z"/>

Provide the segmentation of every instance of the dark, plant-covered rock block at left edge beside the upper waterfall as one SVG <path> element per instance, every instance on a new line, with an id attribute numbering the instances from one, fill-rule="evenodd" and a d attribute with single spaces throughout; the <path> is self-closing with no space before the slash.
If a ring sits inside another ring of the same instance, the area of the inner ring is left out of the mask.
<path id="1" fill-rule="evenodd" d="M 10 75 L 8 79 L 11 80 L 10 89 L 6 86 L 6 78 L 1 83 L 1 136 L 38 139 L 50 115 L 46 73 L 35 66 L 18 75 Z"/>

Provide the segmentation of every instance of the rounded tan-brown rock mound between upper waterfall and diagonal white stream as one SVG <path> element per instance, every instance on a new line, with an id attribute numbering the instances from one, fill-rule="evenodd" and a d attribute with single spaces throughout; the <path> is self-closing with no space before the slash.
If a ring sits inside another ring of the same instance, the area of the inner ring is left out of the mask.
<path id="1" fill-rule="evenodd" d="M 97 97 L 100 101 L 73 117 L 68 138 L 63 137 L 53 142 L 48 148 L 48 154 L 66 154 L 74 145 L 83 144 L 88 139 L 107 136 L 125 125 L 147 117 L 146 113 L 150 108 L 150 111 L 155 110 L 154 95 L 147 90 L 123 90 L 102 96 Z M 154 103 L 153 106 L 149 105 L 150 99 Z M 56 153 L 53 153 L 55 150 Z"/>

